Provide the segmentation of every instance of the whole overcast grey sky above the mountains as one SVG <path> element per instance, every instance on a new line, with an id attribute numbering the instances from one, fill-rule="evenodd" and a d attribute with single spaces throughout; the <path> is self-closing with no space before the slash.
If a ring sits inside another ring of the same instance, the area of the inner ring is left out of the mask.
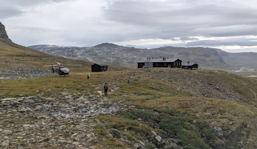
<path id="1" fill-rule="evenodd" d="M 23 46 L 214 47 L 257 52 L 256 0 L 0 0 Z"/>

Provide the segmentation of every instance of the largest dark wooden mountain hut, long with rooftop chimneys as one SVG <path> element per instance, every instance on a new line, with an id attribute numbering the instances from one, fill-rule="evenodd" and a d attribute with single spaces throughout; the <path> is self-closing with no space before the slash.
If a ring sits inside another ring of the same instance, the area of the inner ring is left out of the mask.
<path id="1" fill-rule="evenodd" d="M 181 68 L 182 61 L 179 59 L 169 59 L 164 57 L 162 59 L 148 58 L 147 60 L 140 60 L 137 62 L 137 68 L 150 68 L 150 67 L 169 67 Z"/>

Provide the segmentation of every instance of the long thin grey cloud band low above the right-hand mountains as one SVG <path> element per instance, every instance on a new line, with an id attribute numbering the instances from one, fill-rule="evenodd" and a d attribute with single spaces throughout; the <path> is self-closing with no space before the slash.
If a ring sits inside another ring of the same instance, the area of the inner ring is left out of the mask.
<path id="1" fill-rule="evenodd" d="M 220 45 L 257 46 L 257 42 L 203 40 L 203 41 L 188 42 L 186 44 L 186 46 L 220 46 Z"/>

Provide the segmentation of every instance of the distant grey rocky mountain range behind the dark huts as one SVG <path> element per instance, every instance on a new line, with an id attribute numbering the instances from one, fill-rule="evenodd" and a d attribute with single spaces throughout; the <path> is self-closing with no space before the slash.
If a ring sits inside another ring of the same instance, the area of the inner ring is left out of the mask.
<path id="1" fill-rule="evenodd" d="M 137 61 L 153 57 L 178 58 L 199 64 L 203 69 L 240 68 L 257 64 L 257 53 L 229 53 L 221 49 L 203 47 L 161 47 L 140 49 L 124 47 L 112 43 L 102 43 L 94 47 L 65 47 L 56 45 L 34 45 L 29 48 L 43 51 L 57 57 L 89 60 L 116 66 L 137 67 Z"/>

